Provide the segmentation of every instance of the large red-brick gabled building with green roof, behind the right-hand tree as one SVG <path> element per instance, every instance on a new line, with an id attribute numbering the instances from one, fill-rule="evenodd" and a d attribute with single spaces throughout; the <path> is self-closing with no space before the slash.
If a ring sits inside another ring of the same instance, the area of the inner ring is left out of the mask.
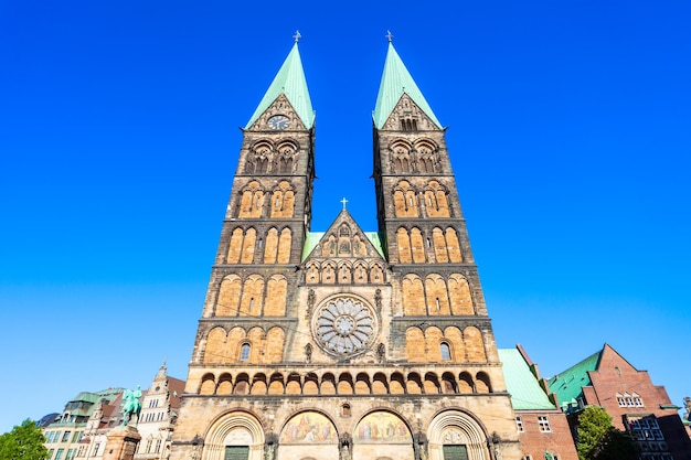
<path id="1" fill-rule="evenodd" d="M 645 460 L 689 460 L 691 441 L 663 386 L 652 384 L 647 371 L 638 371 L 612 346 L 586 357 L 550 378 L 572 427 L 586 406 L 600 406 L 613 425 L 628 431 Z"/>

